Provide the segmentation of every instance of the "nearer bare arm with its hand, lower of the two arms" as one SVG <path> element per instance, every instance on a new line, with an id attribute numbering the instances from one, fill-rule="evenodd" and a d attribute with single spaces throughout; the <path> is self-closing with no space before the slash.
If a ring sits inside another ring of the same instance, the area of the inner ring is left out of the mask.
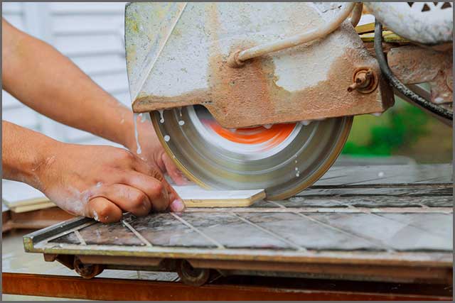
<path id="1" fill-rule="evenodd" d="M 71 214 L 102 222 L 122 211 L 182 211 L 183 202 L 158 167 L 122 148 L 61 143 L 2 121 L 3 177 L 41 190 Z"/>

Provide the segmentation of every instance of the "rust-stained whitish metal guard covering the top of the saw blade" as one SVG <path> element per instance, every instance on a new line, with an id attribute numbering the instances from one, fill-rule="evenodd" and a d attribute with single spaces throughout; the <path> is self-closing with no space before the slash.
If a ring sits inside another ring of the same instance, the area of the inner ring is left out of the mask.
<path id="1" fill-rule="evenodd" d="M 325 39 L 232 68 L 236 50 L 309 31 L 341 4 L 134 3 L 125 12 L 134 112 L 200 104 L 225 128 L 373 114 L 393 104 L 375 58 L 349 21 Z M 371 70 L 372 92 L 348 92 Z"/>

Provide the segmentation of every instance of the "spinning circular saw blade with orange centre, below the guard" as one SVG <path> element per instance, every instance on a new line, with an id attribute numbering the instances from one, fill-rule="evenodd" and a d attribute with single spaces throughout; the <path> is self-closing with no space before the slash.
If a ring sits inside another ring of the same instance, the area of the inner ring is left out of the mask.
<path id="1" fill-rule="evenodd" d="M 341 153 L 353 117 L 226 129 L 203 106 L 151 112 L 166 153 L 205 188 L 265 189 L 285 199 L 316 182 Z"/>

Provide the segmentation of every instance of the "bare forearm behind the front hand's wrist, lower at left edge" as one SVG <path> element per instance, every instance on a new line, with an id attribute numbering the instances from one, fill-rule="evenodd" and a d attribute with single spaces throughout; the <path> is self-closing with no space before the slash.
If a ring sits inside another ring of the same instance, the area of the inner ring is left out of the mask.
<path id="1" fill-rule="evenodd" d="M 50 165 L 55 148 L 63 143 L 14 123 L 1 121 L 1 124 L 2 177 L 42 189 L 39 172 Z"/>

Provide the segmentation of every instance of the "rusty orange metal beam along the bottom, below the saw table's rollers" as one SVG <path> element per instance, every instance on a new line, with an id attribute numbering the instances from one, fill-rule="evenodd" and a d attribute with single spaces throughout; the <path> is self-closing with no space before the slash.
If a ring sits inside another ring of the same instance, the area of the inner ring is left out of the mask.
<path id="1" fill-rule="evenodd" d="M 2 273 L 4 294 L 34 295 L 97 300 L 156 300 L 156 301 L 218 301 L 218 300 L 451 300 L 446 285 L 393 285 L 336 280 L 305 280 L 292 282 L 282 279 L 259 279 L 233 285 L 232 280 L 219 281 L 201 287 L 180 282 L 152 282 L 56 275 Z M 287 287 L 280 286 L 286 284 Z M 299 286 L 297 286 L 299 285 Z M 301 285 L 305 285 L 302 287 Z"/>

